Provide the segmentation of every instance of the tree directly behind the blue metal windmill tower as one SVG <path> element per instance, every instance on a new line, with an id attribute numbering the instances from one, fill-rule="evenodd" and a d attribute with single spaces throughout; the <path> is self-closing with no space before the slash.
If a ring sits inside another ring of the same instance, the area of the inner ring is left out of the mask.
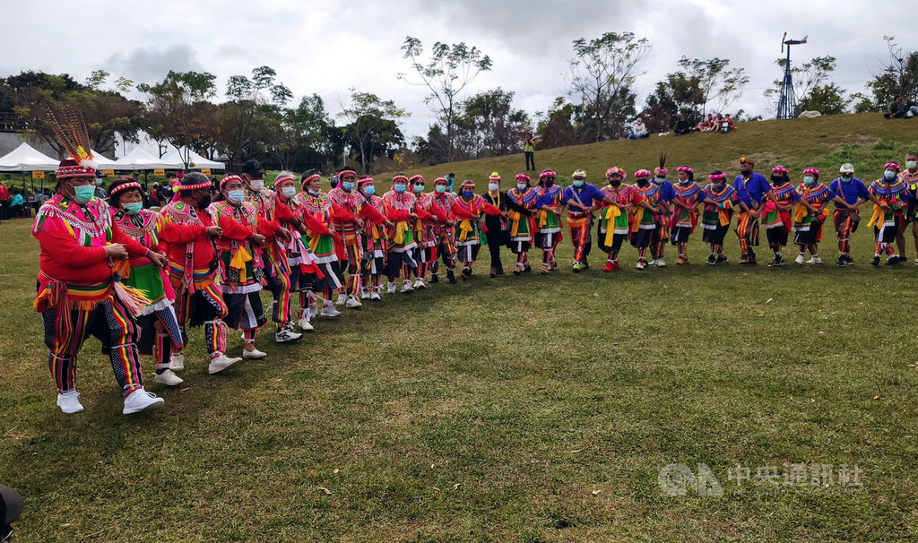
<path id="1" fill-rule="evenodd" d="M 787 59 L 775 61 L 781 72 L 787 66 Z M 818 111 L 823 115 L 837 115 L 845 112 L 850 99 L 845 98 L 845 90 L 830 81 L 835 71 L 835 57 L 826 55 L 816 57 L 809 62 L 790 68 L 794 80 L 794 94 L 800 111 Z M 774 86 L 765 91 L 765 96 L 772 101 L 772 107 L 778 109 L 783 77 L 775 80 Z"/>

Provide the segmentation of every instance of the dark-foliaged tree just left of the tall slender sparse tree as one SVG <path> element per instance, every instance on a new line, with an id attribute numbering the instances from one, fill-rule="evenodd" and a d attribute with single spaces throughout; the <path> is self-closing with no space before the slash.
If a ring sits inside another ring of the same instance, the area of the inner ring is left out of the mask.
<path id="1" fill-rule="evenodd" d="M 395 102 L 351 89 L 351 103 L 341 105 L 341 109 L 338 116 L 348 121 L 341 134 L 346 136 L 348 147 L 364 172 L 370 172 L 375 158 L 395 152 L 405 142 L 398 121 L 409 113 Z"/>

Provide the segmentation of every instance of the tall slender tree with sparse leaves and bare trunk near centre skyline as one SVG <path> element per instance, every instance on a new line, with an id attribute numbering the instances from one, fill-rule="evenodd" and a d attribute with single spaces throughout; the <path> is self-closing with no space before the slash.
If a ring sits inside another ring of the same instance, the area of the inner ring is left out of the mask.
<path id="1" fill-rule="evenodd" d="M 410 36 L 405 38 L 401 50 L 405 51 L 404 58 L 411 61 L 411 68 L 417 72 L 420 82 L 411 83 L 404 73 L 399 73 L 398 79 L 426 86 L 431 91 L 424 103 L 446 127 L 446 156 L 447 161 L 452 162 L 457 100 L 479 73 L 491 70 L 491 59 L 465 42 L 449 46 L 438 41 L 433 44 L 430 59 L 422 64 L 419 57 L 424 52 L 423 45 L 420 39 Z"/>

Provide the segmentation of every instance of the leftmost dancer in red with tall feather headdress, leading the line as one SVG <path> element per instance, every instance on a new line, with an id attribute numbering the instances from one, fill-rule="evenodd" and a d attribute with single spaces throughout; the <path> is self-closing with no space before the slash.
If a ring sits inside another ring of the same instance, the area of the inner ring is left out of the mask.
<path id="1" fill-rule="evenodd" d="M 40 247 L 34 305 L 44 326 L 57 404 L 65 414 L 83 411 L 77 353 L 92 334 L 108 353 L 124 398 L 122 413 L 162 406 L 162 398 L 144 390 L 140 371 L 134 317 L 146 300 L 116 283 L 131 258 L 146 257 L 161 268 L 167 260 L 115 227 L 106 202 L 95 198 L 95 161 L 86 152 L 85 127 L 68 126 L 64 134 L 61 130 L 60 139 L 70 156 L 57 169 L 57 193 L 41 205 L 32 227 Z"/>

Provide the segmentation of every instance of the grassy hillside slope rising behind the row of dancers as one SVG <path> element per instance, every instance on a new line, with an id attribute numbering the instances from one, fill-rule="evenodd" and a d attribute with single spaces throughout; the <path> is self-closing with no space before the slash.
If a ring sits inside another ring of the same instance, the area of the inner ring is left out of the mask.
<path id="1" fill-rule="evenodd" d="M 834 175 L 845 161 L 855 164 L 862 178 L 879 176 L 883 164 L 902 161 L 909 150 L 918 149 L 918 119 L 887 120 L 879 114 L 822 116 L 814 119 L 767 120 L 741 123 L 730 134 L 672 134 L 649 139 L 617 140 L 563 147 L 536 148 L 539 172 L 551 168 L 559 177 L 569 177 L 577 168 L 587 171 L 588 180 L 601 181 L 603 172 L 613 165 L 628 172 L 653 169 L 661 152 L 666 152 L 669 170 L 689 165 L 696 174 L 715 169 L 738 172 L 736 160 L 747 156 L 756 160 L 759 172 L 781 164 L 791 172 L 815 166 Z M 457 179 L 483 181 L 490 172 L 500 172 L 505 181 L 524 172 L 522 154 L 478 161 L 453 162 L 411 170 L 427 179 L 455 172 Z M 389 172 L 391 175 L 391 172 Z M 376 174 L 386 179 L 386 173 Z M 476 187 L 476 188 L 483 188 Z"/>

